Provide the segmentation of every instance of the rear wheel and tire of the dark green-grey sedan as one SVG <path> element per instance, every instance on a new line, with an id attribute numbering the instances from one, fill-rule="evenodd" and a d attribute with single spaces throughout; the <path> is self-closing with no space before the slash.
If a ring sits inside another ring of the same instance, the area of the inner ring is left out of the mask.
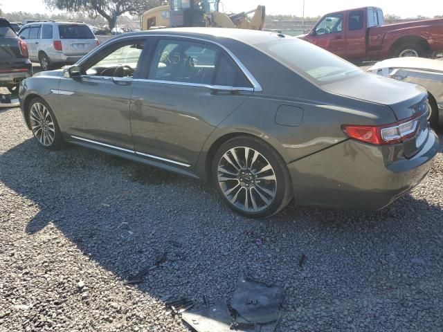
<path id="1" fill-rule="evenodd" d="M 258 138 L 238 136 L 224 142 L 213 158 L 211 176 L 226 204 L 250 218 L 268 218 L 293 198 L 286 163 Z"/>

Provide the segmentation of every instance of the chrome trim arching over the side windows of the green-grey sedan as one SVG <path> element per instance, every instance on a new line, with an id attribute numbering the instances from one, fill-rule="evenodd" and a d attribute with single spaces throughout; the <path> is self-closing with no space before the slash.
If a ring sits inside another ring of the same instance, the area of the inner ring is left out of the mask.
<path id="1" fill-rule="evenodd" d="M 191 37 L 191 36 L 184 36 L 184 35 L 168 35 L 168 34 L 160 34 L 160 33 L 144 33 L 143 35 L 134 35 L 134 36 L 125 36 L 125 35 L 120 35 L 118 37 L 116 37 L 114 39 L 114 41 L 112 42 L 112 44 L 116 43 L 116 42 L 120 42 L 121 39 L 126 39 L 126 38 L 143 38 L 143 37 L 169 37 L 169 38 L 180 38 L 180 39 L 193 39 L 193 40 L 198 40 L 200 42 L 206 42 L 206 43 L 210 43 L 210 44 L 214 44 L 219 46 L 220 48 L 222 48 L 226 53 L 228 53 L 228 55 L 234 60 L 235 64 L 237 64 L 237 66 L 239 66 L 240 70 L 244 73 L 244 75 L 246 76 L 246 78 L 248 79 L 248 81 L 252 84 L 253 88 L 244 88 L 244 89 L 252 89 L 252 90 L 246 90 L 246 91 L 263 91 L 262 86 L 260 85 L 260 83 L 255 79 L 255 77 L 252 75 L 252 73 L 250 71 L 248 71 L 248 68 L 246 68 L 246 66 L 244 66 L 244 64 L 239 60 L 239 58 L 232 53 L 232 51 L 227 48 L 226 46 L 218 43 L 218 42 L 214 42 L 213 40 L 209 40 L 209 39 L 204 39 L 204 38 L 200 38 L 200 37 Z M 105 46 L 109 43 L 103 43 L 102 45 Z M 95 51 L 93 51 L 92 53 L 90 53 L 89 57 L 95 55 L 96 53 L 98 53 L 98 51 L 100 51 L 102 47 L 98 47 L 95 49 Z M 87 58 L 84 58 L 84 61 L 86 61 Z M 83 62 L 84 62 L 83 61 Z M 80 65 L 82 64 L 82 62 L 80 62 Z M 145 79 L 136 79 L 136 80 L 145 80 Z M 148 80 L 148 81 L 152 81 L 152 82 L 159 82 L 156 80 Z M 163 82 L 169 82 L 169 81 L 163 81 Z M 183 85 L 180 83 L 183 82 L 174 82 L 177 83 L 179 85 Z M 166 83 L 166 84 L 172 84 L 171 83 Z M 205 85 L 205 84 L 203 84 Z M 216 88 L 213 88 L 216 89 Z M 238 89 L 237 89 L 238 90 Z M 242 89 L 243 90 L 243 89 Z"/>

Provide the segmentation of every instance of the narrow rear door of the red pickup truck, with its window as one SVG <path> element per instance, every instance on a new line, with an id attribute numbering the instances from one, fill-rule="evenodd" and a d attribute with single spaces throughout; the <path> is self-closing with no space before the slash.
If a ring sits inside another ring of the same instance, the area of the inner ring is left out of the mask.
<path id="1" fill-rule="evenodd" d="M 363 59 L 366 57 L 366 30 L 368 24 L 363 10 L 347 13 L 346 58 Z"/>

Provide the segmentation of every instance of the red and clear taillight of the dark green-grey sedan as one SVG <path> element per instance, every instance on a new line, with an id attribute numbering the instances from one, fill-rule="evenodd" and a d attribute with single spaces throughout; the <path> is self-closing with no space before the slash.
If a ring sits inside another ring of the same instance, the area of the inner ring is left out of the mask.
<path id="1" fill-rule="evenodd" d="M 406 120 L 379 126 L 343 124 L 341 129 L 345 131 L 349 138 L 360 140 L 361 142 L 374 145 L 395 144 L 415 136 L 419 127 L 418 118 L 422 115 L 417 114 Z"/>

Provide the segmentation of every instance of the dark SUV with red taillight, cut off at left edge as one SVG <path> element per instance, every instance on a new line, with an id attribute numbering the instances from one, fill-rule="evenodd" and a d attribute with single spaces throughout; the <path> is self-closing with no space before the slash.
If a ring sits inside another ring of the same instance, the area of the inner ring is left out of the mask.
<path id="1" fill-rule="evenodd" d="M 19 83 L 33 75 L 28 46 L 17 36 L 7 19 L 0 18 L 0 86 L 18 92 Z"/>

